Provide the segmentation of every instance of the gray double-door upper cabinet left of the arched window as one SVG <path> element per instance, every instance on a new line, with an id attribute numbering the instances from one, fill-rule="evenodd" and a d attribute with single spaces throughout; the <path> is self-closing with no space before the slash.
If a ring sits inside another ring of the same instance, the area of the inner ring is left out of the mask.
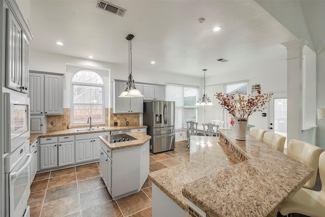
<path id="1" fill-rule="evenodd" d="M 30 71 L 30 114 L 63 114 L 63 74 Z"/>

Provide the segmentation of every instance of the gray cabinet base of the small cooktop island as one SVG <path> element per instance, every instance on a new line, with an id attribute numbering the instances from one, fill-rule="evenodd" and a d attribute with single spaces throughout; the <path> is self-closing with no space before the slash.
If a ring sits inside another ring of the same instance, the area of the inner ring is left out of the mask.
<path id="1" fill-rule="evenodd" d="M 114 200 L 139 192 L 149 173 L 149 141 L 114 150 L 101 141 L 100 171 Z"/>

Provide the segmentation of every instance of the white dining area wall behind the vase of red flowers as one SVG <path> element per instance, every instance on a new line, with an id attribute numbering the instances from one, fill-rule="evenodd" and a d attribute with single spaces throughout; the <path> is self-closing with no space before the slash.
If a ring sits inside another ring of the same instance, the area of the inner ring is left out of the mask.
<path id="1" fill-rule="evenodd" d="M 283 53 L 286 53 L 283 48 Z M 230 62 L 229 62 L 230 63 Z M 228 63 L 226 63 L 228 64 Z M 213 70 L 210 70 L 213 71 Z M 211 73 L 217 74 L 217 73 Z M 211 76 L 206 78 L 206 92 L 208 97 L 212 99 L 213 106 L 201 107 L 205 110 L 204 121 L 211 122 L 212 119 L 222 120 L 222 109 L 219 101 L 214 95 L 216 92 L 223 92 L 222 83 L 229 83 L 235 81 L 249 80 L 248 91 L 251 90 L 251 85 L 261 84 L 262 92 L 286 92 L 286 59 L 270 62 L 264 61 L 258 65 L 246 66 L 242 71 L 222 74 L 218 72 L 218 76 Z M 267 110 L 265 110 L 267 112 Z M 255 112 L 249 116 L 248 123 L 255 125 L 257 128 L 268 130 L 268 116 L 262 117 L 261 112 Z"/>

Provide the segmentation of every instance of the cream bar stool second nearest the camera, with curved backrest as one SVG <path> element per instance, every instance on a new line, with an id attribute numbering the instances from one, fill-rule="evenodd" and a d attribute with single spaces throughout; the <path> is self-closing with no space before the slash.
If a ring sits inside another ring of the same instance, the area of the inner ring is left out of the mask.
<path id="1" fill-rule="evenodd" d="M 312 189 L 315 185 L 318 160 L 321 152 L 323 152 L 323 149 L 316 145 L 297 139 L 291 139 L 289 141 L 287 155 L 314 169 L 313 176 L 304 185 L 304 188 L 306 189 Z"/>

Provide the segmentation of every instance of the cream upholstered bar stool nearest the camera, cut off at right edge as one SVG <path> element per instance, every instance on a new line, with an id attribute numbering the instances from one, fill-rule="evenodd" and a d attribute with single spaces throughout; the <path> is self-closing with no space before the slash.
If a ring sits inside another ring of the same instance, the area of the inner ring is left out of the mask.
<path id="1" fill-rule="evenodd" d="M 319 157 L 320 192 L 302 188 L 280 209 L 282 215 L 299 213 L 313 217 L 325 216 L 325 152 Z"/>

